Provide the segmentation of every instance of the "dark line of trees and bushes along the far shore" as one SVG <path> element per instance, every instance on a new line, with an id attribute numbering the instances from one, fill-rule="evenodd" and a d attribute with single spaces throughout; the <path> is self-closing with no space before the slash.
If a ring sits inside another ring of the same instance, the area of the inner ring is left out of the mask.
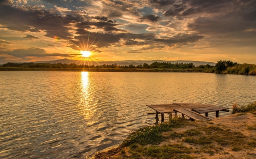
<path id="1" fill-rule="evenodd" d="M 144 63 L 143 65 L 135 66 L 130 64 L 128 66 L 111 64 L 111 65 L 77 65 L 76 63 L 34 63 L 34 62 L 24 62 L 24 63 L 14 63 L 8 62 L 0 67 L 27 67 L 27 68 L 112 68 L 112 69 L 129 69 L 129 68 L 140 68 L 140 69 L 152 69 L 156 68 L 162 69 L 188 69 L 195 70 L 197 72 L 207 72 L 216 74 L 240 74 L 240 75 L 256 75 L 256 65 L 253 64 L 240 64 L 233 61 L 217 61 L 216 65 L 199 65 L 195 66 L 193 63 L 171 63 L 171 62 L 153 62 L 151 64 Z"/>

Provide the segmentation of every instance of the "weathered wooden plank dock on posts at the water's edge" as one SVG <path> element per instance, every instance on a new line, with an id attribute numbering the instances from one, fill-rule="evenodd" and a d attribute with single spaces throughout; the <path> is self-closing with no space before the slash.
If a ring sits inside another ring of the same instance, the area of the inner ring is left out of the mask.
<path id="1" fill-rule="evenodd" d="M 172 114 L 177 112 L 182 114 L 182 117 L 186 115 L 193 120 L 209 121 L 208 113 L 216 111 L 216 118 L 218 118 L 219 111 L 229 111 L 229 108 L 223 106 L 216 106 L 210 104 L 193 104 L 193 103 L 172 103 L 172 104 L 160 104 L 160 105 L 147 105 L 148 107 L 155 110 L 156 123 L 158 123 L 158 114 L 161 114 L 161 122 L 164 121 L 164 113 Z M 205 117 L 201 115 L 205 113 Z"/>

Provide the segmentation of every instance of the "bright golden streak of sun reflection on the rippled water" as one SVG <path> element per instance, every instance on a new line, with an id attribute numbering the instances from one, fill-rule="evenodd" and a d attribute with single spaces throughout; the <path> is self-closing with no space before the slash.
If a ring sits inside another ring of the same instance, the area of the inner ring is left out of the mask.
<path id="1" fill-rule="evenodd" d="M 85 119 L 92 118 L 95 111 L 92 96 L 89 90 L 90 90 L 89 72 L 81 72 L 80 107 L 82 109 L 82 114 L 84 114 Z"/>

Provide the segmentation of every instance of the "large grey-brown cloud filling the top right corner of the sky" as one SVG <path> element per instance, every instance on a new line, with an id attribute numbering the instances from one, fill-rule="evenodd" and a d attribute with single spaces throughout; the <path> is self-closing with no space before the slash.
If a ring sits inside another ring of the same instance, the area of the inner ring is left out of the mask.
<path id="1" fill-rule="evenodd" d="M 214 1 L 212 3 L 189 2 L 193 6 L 197 5 L 200 7 L 210 7 L 211 5 L 213 5 L 213 7 L 218 6 L 217 11 L 220 11 L 221 15 L 215 16 L 214 14 L 209 14 L 204 17 L 200 16 L 196 18 L 193 23 L 189 23 L 187 27 L 205 35 L 214 34 L 220 35 L 221 37 L 235 38 L 246 38 L 246 36 L 249 38 L 255 36 L 255 32 L 246 33 L 245 31 L 256 28 L 256 1 L 229 2 L 230 1 Z"/>

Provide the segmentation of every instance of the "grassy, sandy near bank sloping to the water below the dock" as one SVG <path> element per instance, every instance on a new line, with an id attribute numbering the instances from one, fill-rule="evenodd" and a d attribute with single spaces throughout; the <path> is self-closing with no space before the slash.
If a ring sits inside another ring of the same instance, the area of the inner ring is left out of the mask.
<path id="1" fill-rule="evenodd" d="M 210 122 L 174 118 L 145 126 L 94 158 L 256 158 L 256 102 L 250 106 Z"/>

